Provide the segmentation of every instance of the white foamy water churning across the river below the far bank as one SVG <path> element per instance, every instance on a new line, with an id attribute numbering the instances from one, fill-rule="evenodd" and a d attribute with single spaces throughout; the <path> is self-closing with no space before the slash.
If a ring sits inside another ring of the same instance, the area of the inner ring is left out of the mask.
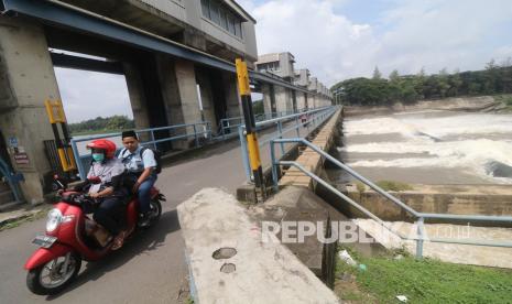
<path id="1" fill-rule="evenodd" d="M 489 182 L 512 184 L 512 178 L 494 177 L 489 170 L 497 162 L 512 170 L 512 115 L 400 113 L 347 120 L 344 129 L 341 151 L 355 167 L 458 169 Z M 391 133 L 401 134 L 401 140 L 383 140 Z M 358 135 L 366 140 L 351 143 Z M 364 153 L 371 158 L 366 160 Z"/>

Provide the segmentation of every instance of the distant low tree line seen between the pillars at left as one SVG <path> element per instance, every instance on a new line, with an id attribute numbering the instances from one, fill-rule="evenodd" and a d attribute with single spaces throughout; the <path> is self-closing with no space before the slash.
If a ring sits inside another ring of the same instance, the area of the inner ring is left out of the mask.
<path id="1" fill-rule="evenodd" d="M 97 117 L 77 123 L 68 124 L 70 133 L 84 133 L 96 131 L 120 131 L 135 128 L 133 119 L 127 116 Z"/>

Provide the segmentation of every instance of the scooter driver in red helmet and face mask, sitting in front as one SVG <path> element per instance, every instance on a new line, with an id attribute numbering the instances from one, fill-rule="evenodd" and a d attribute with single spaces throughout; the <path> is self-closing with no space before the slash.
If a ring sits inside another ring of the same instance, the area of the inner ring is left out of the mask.
<path id="1" fill-rule="evenodd" d="M 94 219 L 113 238 L 111 250 L 121 248 L 126 231 L 121 229 L 124 219 L 124 198 L 128 193 L 123 188 L 124 165 L 115 158 L 116 144 L 109 140 L 99 139 L 87 144 L 91 150 L 92 163 L 87 180 L 75 189 L 87 191 L 99 206 L 94 213 Z"/>

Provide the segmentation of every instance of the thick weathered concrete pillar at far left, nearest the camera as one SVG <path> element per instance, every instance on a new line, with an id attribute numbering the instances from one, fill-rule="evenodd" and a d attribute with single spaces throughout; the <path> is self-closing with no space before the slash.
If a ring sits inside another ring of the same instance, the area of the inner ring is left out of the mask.
<path id="1" fill-rule="evenodd" d="M 43 202 L 43 176 L 51 170 L 43 144 L 54 138 L 46 99 L 61 96 L 42 25 L 0 17 L 0 129 L 7 141 L 18 141 L 9 154 L 24 175 L 21 188 L 32 204 Z M 28 163 L 17 163 L 15 153 L 26 153 Z"/>

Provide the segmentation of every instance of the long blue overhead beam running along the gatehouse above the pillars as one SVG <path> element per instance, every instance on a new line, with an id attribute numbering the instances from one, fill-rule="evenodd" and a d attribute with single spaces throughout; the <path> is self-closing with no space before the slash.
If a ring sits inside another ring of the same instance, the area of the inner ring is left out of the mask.
<path id="1" fill-rule="evenodd" d="M 66 26 L 83 33 L 94 34 L 104 39 L 126 43 L 144 50 L 165 53 L 174 57 L 184 58 L 197 64 L 235 73 L 235 64 L 230 62 L 63 2 L 53 0 L 1 1 L 3 3 L 3 13 L 23 14 L 39 19 L 48 25 Z M 259 72 L 251 70 L 250 77 L 254 80 L 271 83 L 290 89 L 312 94 L 307 89 L 294 86 L 283 79 L 271 77 Z"/>

